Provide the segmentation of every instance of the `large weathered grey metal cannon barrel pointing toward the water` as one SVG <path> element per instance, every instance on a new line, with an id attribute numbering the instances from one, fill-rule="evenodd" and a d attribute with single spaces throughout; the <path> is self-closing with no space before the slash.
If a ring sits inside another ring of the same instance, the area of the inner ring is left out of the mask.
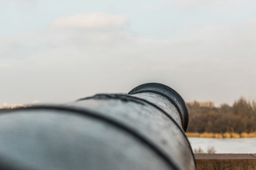
<path id="1" fill-rule="evenodd" d="M 0 169 L 196 169 L 183 98 L 164 84 L 0 111 Z"/>

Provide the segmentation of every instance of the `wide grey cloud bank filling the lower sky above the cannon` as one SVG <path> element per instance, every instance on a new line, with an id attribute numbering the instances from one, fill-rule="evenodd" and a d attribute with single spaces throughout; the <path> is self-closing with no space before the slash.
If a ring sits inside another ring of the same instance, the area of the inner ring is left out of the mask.
<path id="1" fill-rule="evenodd" d="M 16 94 L 16 103 L 38 96 L 43 102 L 69 101 L 99 92 L 129 91 L 146 81 L 169 84 L 186 101 L 231 102 L 256 93 L 250 91 L 256 84 L 256 21 L 235 26 L 196 24 L 170 40 L 131 33 L 127 23 L 125 16 L 79 14 L 57 18 L 45 30 L 0 40 L 0 53 L 6 56 L 0 62 L 19 65 L 8 76 L 0 75 L 2 95 Z"/>

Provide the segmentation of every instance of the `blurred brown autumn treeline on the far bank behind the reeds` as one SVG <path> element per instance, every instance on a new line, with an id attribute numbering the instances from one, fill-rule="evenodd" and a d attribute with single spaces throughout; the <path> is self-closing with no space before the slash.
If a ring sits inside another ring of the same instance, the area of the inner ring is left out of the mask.
<path id="1" fill-rule="evenodd" d="M 240 98 L 233 106 L 219 108 L 200 107 L 196 101 L 188 105 L 187 132 L 256 132 L 256 103 Z"/>

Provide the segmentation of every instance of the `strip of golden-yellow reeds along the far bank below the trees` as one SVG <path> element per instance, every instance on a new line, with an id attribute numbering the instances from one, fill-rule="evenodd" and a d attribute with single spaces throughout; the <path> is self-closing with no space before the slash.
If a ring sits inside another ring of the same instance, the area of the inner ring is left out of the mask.
<path id="1" fill-rule="evenodd" d="M 187 137 L 203 137 L 203 138 L 216 138 L 216 139 L 229 139 L 229 138 L 252 138 L 256 137 L 256 132 L 246 133 L 242 132 L 241 134 L 235 132 L 225 132 L 225 133 L 210 133 L 210 132 L 186 132 Z"/>

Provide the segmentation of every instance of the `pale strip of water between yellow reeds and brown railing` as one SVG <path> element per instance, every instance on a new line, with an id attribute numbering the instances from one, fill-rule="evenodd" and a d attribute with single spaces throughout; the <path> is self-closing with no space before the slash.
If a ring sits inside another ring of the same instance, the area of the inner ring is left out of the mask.
<path id="1" fill-rule="evenodd" d="M 208 147 L 214 147 L 215 153 L 256 153 L 256 138 L 243 139 L 208 139 L 200 137 L 188 137 L 192 149 L 201 147 L 207 150 Z"/>

